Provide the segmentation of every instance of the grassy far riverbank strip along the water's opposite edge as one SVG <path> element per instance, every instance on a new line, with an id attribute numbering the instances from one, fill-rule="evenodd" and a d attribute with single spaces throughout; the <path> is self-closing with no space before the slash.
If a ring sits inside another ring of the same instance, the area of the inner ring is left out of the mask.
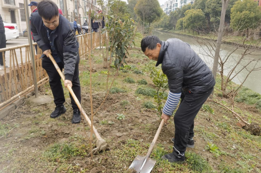
<path id="1" fill-rule="evenodd" d="M 217 35 L 213 34 L 197 34 L 197 32 L 189 32 L 188 30 L 185 32 L 183 30 L 174 30 L 174 29 L 155 29 L 157 31 L 165 32 L 165 33 L 172 33 L 177 34 L 180 36 L 188 36 L 188 37 L 198 37 L 203 38 L 209 41 L 217 41 Z M 223 37 L 222 43 L 233 45 L 233 46 L 240 46 L 243 47 L 243 42 L 245 45 L 252 45 L 252 49 L 260 49 L 261 40 L 244 40 L 243 36 L 227 36 L 227 38 Z"/>

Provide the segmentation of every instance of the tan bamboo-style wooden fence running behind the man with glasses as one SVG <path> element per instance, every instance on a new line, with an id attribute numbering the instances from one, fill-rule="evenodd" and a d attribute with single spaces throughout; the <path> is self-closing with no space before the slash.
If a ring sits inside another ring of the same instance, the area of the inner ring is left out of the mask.
<path id="1" fill-rule="evenodd" d="M 80 57 L 86 56 L 91 50 L 90 33 L 77 36 L 79 42 Z M 92 48 L 103 45 L 103 37 L 99 38 L 98 32 L 92 33 Z M 36 45 L 36 43 L 33 43 Z M 33 69 L 31 65 L 31 56 L 29 44 L 0 49 L 3 56 L 4 69 L 0 70 L 0 110 L 8 106 L 15 100 L 33 91 Z M 49 81 L 46 71 L 42 68 L 41 49 L 37 47 L 38 55 L 35 55 L 33 46 L 37 86 L 41 86 Z M 9 58 L 9 59 L 8 59 Z M 9 67 L 6 68 L 6 63 Z"/>

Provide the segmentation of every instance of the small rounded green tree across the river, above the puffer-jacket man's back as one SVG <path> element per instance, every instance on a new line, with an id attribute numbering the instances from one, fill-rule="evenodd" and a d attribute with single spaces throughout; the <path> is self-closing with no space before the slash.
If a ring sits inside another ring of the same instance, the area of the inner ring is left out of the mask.
<path id="1" fill-rule="evenodd" d="M 206 23 L 205 14 L 201 9 L 191 9 L 185 12 L 185 17 L 183 18 L 183 27 L 186 29 L 198 30 L 199 27 L 204 26 Z"/>

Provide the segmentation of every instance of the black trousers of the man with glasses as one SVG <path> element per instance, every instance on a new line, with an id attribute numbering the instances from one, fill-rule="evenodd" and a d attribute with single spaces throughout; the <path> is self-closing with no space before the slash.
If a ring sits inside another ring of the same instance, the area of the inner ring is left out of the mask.
<path id="1" fill-rule="evenodd" d="M 80 80 L 79 80 L 79 61 L 80 58 L 78 57 L 77 63 L 75 65 L 74 75 L 72 78 L 72 90 L 74 94 L 76 95 L 79 102 L 81 102 L 81 86 L 80 86 Z M 61 71 L 63 71 L 64 65 L 62 62 L 57 63 L 60 67 Z M 46 56 L 42 59 L 42 67 L 46 70 L 48 76 L 49 76 L 49 84 L 53 92 L 54 96 L 54 103 L 56 105 L 63 105 L 65 102 L 65 95 L 64 95 L 64 89 L 61 82 L 61 77 L 59 73 L 57 72 L 56 68 L 54 67 L 53 62 L 47 58 Z M 71 105 L 72 109 L 78 109 L 75 101 L 73 100 L 71 94 Z"/>

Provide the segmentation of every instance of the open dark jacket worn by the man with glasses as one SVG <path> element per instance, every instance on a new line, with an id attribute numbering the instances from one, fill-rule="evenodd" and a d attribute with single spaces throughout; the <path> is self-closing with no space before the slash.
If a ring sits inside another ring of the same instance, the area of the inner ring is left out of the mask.
<path id="1" fill-rule="evenodd" d="M 59 58 L 65 66 L 65 80 L 72 81 L 75 64 L 79 61 L 79 43 L 75 36 L 75 31 L 72 24 L 59 14 L 58 36 L 54 41 L 55 50 Z M 47 30 L 44 27 L 43 21 L 38 12 L 33 13 L 31 18 L 31 31 L 33 39 L 37 42 L 39 48 L 44 52 L 50 48 L 50 43 L 47 38 Z"/>

